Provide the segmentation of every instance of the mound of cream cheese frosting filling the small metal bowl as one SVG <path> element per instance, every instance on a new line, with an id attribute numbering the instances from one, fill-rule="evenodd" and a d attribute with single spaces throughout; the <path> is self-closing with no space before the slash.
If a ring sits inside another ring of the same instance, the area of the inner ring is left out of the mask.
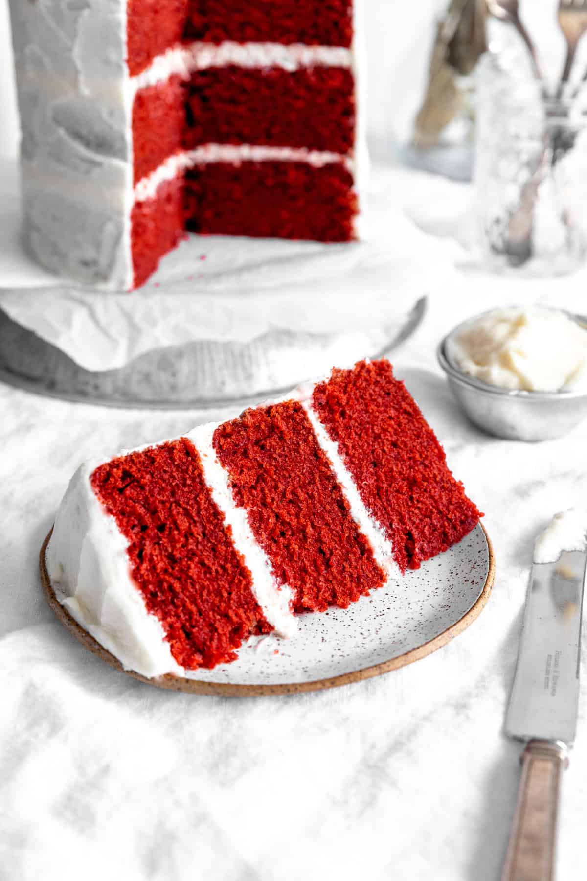
<path id="1" fill-rule="evenodd" d="M 587 330 L 557 309 L 494 309 L 451 337 L 447 355 L 502 389 L 587 389 Z"/>

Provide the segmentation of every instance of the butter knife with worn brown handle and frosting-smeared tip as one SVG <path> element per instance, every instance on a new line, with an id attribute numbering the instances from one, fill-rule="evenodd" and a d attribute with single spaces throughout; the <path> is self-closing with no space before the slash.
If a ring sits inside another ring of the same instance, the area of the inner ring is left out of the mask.
<path id="1" fill-rule="evenodd" d="M 564 516 L 554 518 L 554 537 Z M 583 529 L 575 540 L 565 539 L 559 529 L 559 544 L 553 550 L 552 540 L 548 543 L 552 562 L 541 561 L 539 543 L 534 554 L 505 720 L 506 734 L 526 745 L 502 881 L 554 879 L 561 772 L 569 766 L 579 700 L 587 559 Z M 549 533 L 552 539 L 552 526 L 545 537 Z M 563 550 L 569 546 L 575 550 Z"/>

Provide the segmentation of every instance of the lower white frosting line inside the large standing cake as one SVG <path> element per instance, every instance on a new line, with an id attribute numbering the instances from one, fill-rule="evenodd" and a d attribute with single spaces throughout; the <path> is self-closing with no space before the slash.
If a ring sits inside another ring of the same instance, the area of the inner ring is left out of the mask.
<path id="1" fill-rule="evenodd" d="M 341 162 L 352 173 L 353 162 L 341 153 L 320 150 L 306 150 L 305 147 L 265 147 L 254 144 L 203 144 L 194 150 L 174 153 L 165 159 L 154 172 L 143 177 L 135 187 L 135 201 L 143 202 L 155 196 L 158 186 L 189 168 L 209 162 L 227 162 L 238 165 L 240 162 L 307 162 L 320 168 L 334 162 Z"/>

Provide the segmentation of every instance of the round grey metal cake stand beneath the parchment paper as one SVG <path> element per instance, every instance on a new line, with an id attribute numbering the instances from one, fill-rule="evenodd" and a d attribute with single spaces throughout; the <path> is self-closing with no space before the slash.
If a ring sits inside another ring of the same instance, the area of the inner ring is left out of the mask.
<path id="1" fill-rule="evenodd" d="M 405 315 L 356 341 L 345 358 L 382 357 L 410 337 L 426 297 Z M 359 348 L 360 346 L 360 348 Z M 0 309 L 0 380 L 62 400 L 109 407 L 194 409 L 251 403 L 275 396 L 320 373 L 340 352 L 335 334 L 276 329 L 250 343 L 200 341 L 147 352 L 116 370 L 93 372 Z"/>

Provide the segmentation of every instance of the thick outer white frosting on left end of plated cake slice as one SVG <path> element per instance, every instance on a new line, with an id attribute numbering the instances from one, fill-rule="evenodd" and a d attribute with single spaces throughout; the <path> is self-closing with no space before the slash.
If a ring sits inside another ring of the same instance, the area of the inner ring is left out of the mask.
<path id="1" fill-rule="evenodd" d="M 48 544 L 48 575 L 59 601 L 126 670 L 145 677 L 184 674 L 161 622 L 151 615 L 130 574 L 128 542 L 92 492 L 98 465 L 71 479 Z"/>

